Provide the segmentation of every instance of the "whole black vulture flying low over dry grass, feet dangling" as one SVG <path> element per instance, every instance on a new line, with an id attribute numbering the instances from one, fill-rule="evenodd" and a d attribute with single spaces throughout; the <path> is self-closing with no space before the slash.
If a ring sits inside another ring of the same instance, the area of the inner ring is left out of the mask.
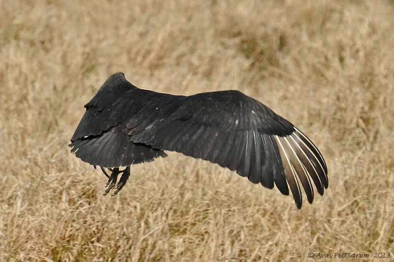
<path id="1" fill-rule="evenodd" d="M 236 90 L 171 95 L 139 89 L 116 73 L 85 108 L 69 146 L 109 178 L 105 194 L 120 174 L 113 195 L 123 188 L 132 164 L 165 157 L 164 150 L 217 163 L 267 188 L 275 184 L 284 195 L 290 187 L 298 208 L 299 181 L 309 203 L 312 181 L 320 195 L 328 187 L 317 147 L 292 123 Z"/>

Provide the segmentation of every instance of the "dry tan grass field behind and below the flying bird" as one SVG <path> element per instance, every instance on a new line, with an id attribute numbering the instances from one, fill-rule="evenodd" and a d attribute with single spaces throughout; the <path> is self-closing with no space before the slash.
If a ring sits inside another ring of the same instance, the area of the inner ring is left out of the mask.
<path id="1" fill-rule="evenodd" d="M 0 0 L 0 261 L 393 261 L 393 13 L 389 0 Z M 319 147 L 328 190 L 297 209 L 169 152 L 103 196 L 106 177 L 67 145 L 118 71 L 160 92 L 255 97 Z"/>

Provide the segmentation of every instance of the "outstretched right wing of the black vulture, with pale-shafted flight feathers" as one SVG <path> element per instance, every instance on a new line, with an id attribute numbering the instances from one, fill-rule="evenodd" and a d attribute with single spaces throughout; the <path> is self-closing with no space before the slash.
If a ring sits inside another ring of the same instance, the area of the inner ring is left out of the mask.
<path id="1" fill-rule="evenodd" d="M 126 124 L 135 143 L 217 163 L 268 188 L 275 183 L 285 195 L 289 184 L 298 207 L 299 181 L 310 203 L 312 181 L 320 194 L 328 187 L 327 167 L 316 146 L 289 121 L 239 91 L 181 97 L 165 117 L 135 125 L 131 116 Z"/>

